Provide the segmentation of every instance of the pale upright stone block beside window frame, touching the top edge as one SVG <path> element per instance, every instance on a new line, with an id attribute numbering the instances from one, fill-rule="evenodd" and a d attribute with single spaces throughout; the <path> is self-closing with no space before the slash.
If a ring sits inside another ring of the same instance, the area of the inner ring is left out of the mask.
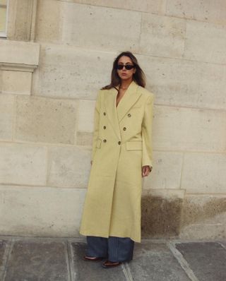
<path id="1" fill-rule="evenodd" d="M 37 1 L 35 40 L 37 42 L 61 42 L 63 1 Z"/>

